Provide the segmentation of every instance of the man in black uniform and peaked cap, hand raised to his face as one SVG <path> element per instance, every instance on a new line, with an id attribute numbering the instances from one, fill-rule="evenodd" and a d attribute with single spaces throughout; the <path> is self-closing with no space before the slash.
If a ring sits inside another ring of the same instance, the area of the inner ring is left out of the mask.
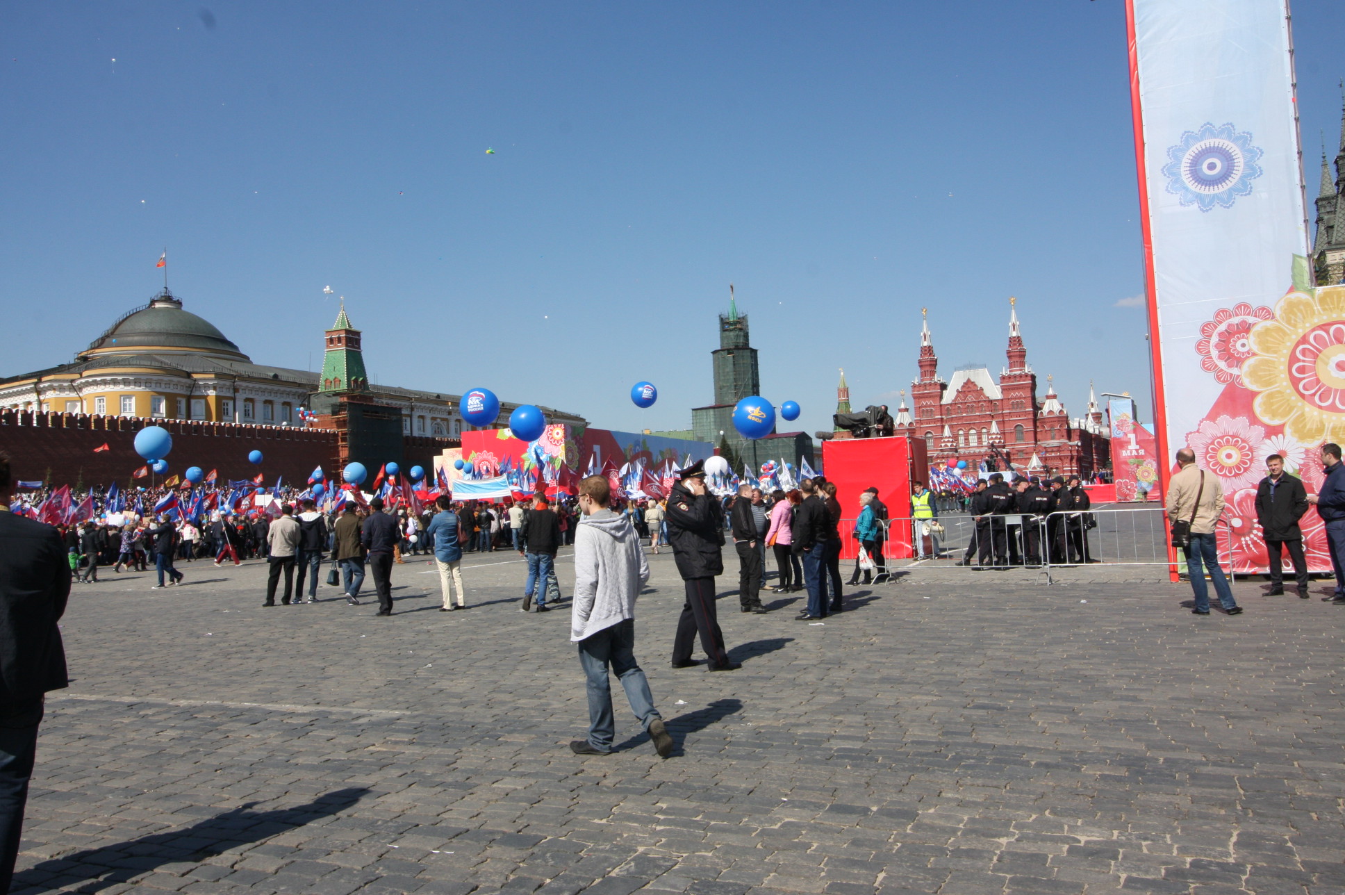
<path id="1" fill-rule="evenodd" d="M 742 668 L 729 661 L 724 631 L 714 608 L 714 576 L 724 573 L 724 532 L 720 530 L 720 502 L 705 487 L 705 462 L 697 460 L 678 472 L 678 482 L 668 493 L 668 544 L 677 571 L 686 583 L 686 602 L 672 641 L 672 668 L 697 665 L 691 643 L 701 634 L 701 649 L 710 659 L 712 672 Z"/>

